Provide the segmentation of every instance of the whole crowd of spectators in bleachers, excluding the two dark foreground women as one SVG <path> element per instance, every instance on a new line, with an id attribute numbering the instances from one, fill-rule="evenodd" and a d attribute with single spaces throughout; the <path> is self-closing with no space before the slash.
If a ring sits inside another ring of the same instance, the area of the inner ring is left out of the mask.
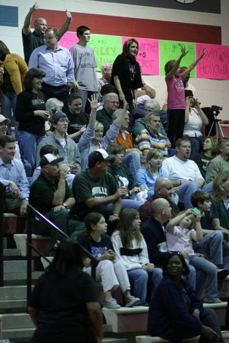
<path id="1" fill-rule="evenodd" d="M 30 202 L 71 237 L 80 232 L 100 261 L 107 308 L 119 307 L 111 294 L 119 285 L 126 306 L 147 306 L 148 278 L 153 294 L 169 251 L 181 252 L 199 296 L 205 286 L 204 302 L 221 302 L 217 278 L 229 267 L 229 137 L 205 137 L 209 119 L 188 83 L 204 50 L 189 68 L 180 68 L 185 49 L 166 63 L 166 113 L 141 75 L 135 39 L 101 66 L 97 80 L 89 27 L 77 28 L 79 42 L 68 51 L 58 41 L 71 14 L 60 30 L 38 18 L 31 32 L 38 9 L 36 3 L 22 28 L 25 61 L 0 41 L 4 211 L 25 215 Z M 33 232 L 50 230 L 35 219 Z M 59 239 L 51 233 L 49 254 Z M 90 271 L 88 259 L 84 266 Z"/>

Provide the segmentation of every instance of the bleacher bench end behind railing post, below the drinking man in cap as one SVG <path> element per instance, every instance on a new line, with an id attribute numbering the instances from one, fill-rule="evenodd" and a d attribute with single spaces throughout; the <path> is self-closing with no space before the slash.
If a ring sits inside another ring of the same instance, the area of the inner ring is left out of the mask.
<path id="1" fill-rule="evenodd" d="M 17 249 L 21 250 L 21 256 L 27 256 L 27 234 L 14 234 L 14 240 Z M 47 245 L 50 242 L 49 236 L 41 236 L 32 234 L 32 244 L 43 254 L 47 255 Z M 39 256 L 35 251 L 32 251 L 33 256 Z"/>

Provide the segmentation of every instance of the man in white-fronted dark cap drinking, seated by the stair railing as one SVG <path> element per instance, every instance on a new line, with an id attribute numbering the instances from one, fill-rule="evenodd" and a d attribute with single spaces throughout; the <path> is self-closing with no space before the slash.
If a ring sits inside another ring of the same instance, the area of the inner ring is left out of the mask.
<path id="1" fill-rule="evenodd" d="M 84 230 L 84 224 L 69 219 L 68 209 L 75 204 L 75 199 L 66 181 L 68 167 L 59 167 L 61 161 L 63 158 L 56 158 L 51 153 L 42 156 L 41 175 L 31 186 L 29 203 L 62 231 L 76 237 L 79 231 Z M 56 240 L 62 237 L 54 230 L 50 232 L 50 228 L 41 220 L 35 219 L 33 224 L 33 233 L 45 236 L 51 234 L 48 244 L 50 254 Z"/>

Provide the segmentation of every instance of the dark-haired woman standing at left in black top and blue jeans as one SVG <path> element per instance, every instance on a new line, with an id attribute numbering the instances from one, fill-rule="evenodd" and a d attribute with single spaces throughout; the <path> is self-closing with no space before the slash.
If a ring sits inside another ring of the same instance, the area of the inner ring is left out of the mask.
<path id="1" fill-rule="evenodd" d="M 46 137 L 45 121 L 49 113 L 45 109 L 45 96 L 41 91 L 45 73 L 30 69 L 24 78 L 24 88 L 17 97 L 15 118 L 19 121 L 18 144 L 22 158 L 34 170 L 38 144 Z"/>

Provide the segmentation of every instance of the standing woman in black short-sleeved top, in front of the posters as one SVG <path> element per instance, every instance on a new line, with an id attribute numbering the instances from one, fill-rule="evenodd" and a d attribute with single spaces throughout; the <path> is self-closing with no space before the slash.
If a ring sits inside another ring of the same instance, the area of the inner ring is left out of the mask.
<path id="1" fill-rule="evenodd" d="M 138 52 L 138 41 L 131 38 L 123 45 L 123 52 L 113 63 L 110 83 L 116 86 L 119 98 L 126 99 L 130 111 L 132 126 L 132 111 L 137 108 L 137 88 L 142 87 L 140 67 L 135 56 Z"/>

